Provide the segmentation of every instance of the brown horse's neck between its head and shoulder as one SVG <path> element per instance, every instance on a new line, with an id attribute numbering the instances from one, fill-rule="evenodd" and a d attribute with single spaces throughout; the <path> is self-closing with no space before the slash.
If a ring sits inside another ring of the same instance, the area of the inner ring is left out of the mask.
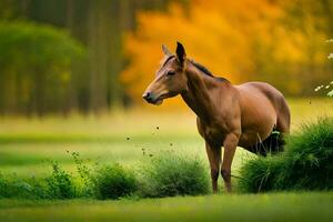
<path id="1" fill-rule="evenodd" d="M 193 65 L 188 67 L 186 75 L 188 91 L 182 93 L 182 98 L 201 120 L 210 123 L 218 117 L 216 99 L 223 97 L 224 85 Z M 216 93 L 221 94 L 216 97 Z"/>

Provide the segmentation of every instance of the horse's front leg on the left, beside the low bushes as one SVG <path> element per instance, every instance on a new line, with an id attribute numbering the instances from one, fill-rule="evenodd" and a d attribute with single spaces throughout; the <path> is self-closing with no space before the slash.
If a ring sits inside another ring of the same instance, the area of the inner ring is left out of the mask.
<path id="1" fill-rule="evenodd" d="M 212 145 L 210 142 L 205 141 L 205 150 L 210 161 L 211 167 L 211 179 L 213 192 L 218 192 L 218 179 L 220 174 L 220 164 L 221 164 L 221 148 Z"/>

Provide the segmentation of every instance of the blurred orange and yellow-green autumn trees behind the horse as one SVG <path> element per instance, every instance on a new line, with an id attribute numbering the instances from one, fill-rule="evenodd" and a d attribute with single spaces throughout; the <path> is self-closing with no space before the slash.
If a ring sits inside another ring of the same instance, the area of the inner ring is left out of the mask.
<path id="1" fill-rule="evenodd" d="M 327 0 L 193 0 L 188 11 L 171 4 L 167 12 L 140 12 L 138 29 L 125 39 L 131 63 L 121 80 L 140 103 L 162 59 L 161 44 L 179 40 L 192 59 L 232 83 L 261 80 L 286 95 L 313 95 L 311 89 L 333 74 L 324 44 L 332 6 Z"/>

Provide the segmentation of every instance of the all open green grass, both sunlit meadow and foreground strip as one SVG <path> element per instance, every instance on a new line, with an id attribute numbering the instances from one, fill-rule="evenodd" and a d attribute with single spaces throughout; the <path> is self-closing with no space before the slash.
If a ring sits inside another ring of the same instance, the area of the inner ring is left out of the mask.
<path id="1" fill-rule="evenodd" d="M 292 131 L 304 121 L 333 115 L 332 99 L 290 99 Z M 142 153 L 145 149 L 147 154 Z M 68 152 L 79 152 L 88 163 L 120 162 L 139 165 L 148 154 L 162 151 L 199 155 L 205 161 L 204 142 L 196 133 L 195 117 L 181 113 L 117 112 L 112 115 L 47 117 L 42 120 L 0 120 L 0 172 L 21 178 L 44 176 L 49 160 L 74 171 Z M 252 154 L 238 149 L 233 174 Z M 209 167 L 208 171 L 209 171 Z M 221 181 L 220 181 L 220 185 Z M 333 193 L 219 194 L 195 198 L 121 201 L 0 200 L 1 221 L 333 221 Z"/>

